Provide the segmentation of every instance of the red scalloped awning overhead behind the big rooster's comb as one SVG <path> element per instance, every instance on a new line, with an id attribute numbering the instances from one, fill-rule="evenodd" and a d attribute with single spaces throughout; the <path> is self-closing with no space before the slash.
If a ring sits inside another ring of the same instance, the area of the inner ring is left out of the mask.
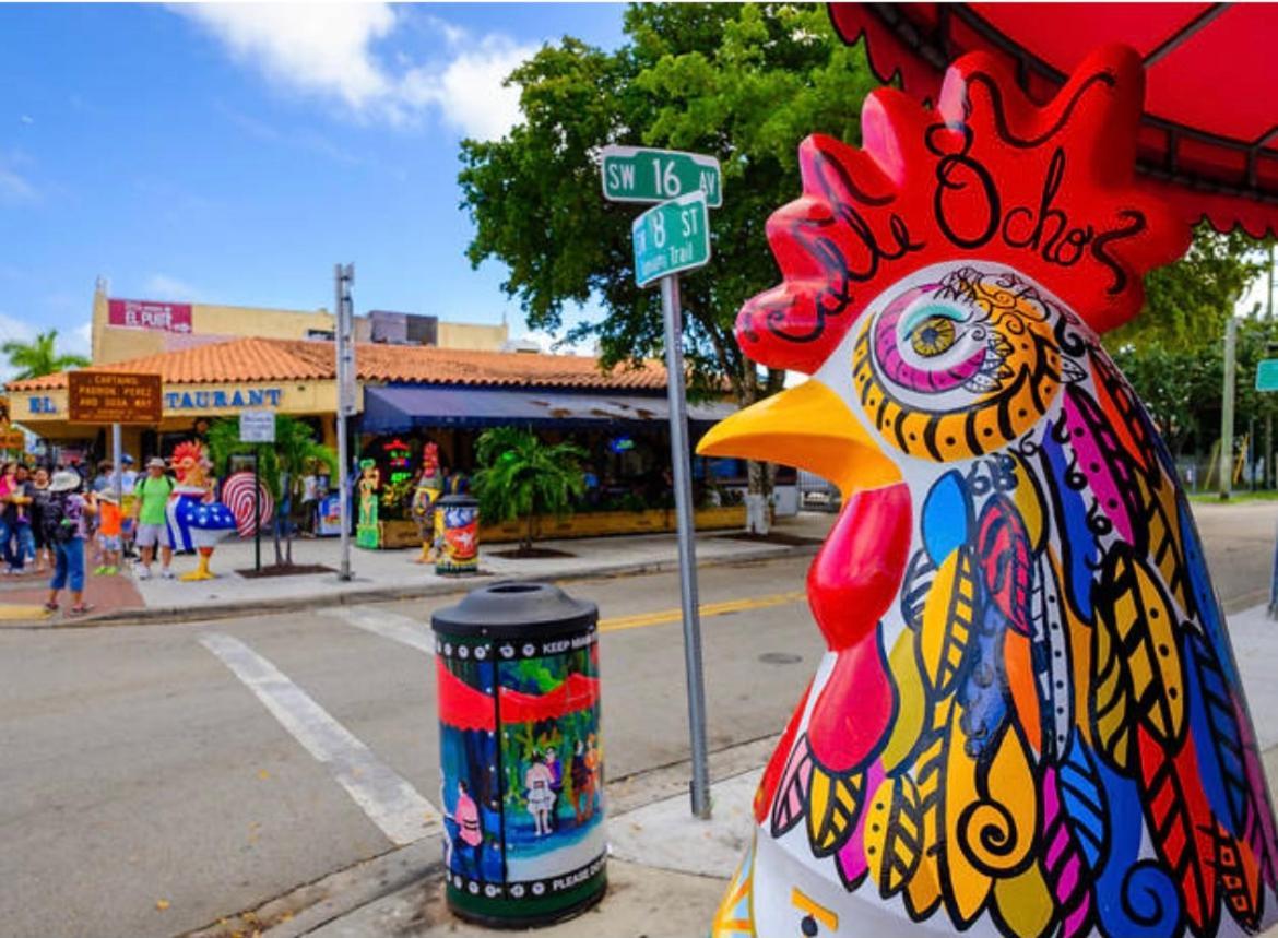
<path id="1" fill-rule="evenodd" d="M 845 42 L 865 36 L 887 82 L 932 98 L 946 66 L 983 50 L 1048 101 L 1093 49 L 1145 61 L 1139 169 L 1187 221 L 1278 234 L 1278 4 L 831 4 Z"/>

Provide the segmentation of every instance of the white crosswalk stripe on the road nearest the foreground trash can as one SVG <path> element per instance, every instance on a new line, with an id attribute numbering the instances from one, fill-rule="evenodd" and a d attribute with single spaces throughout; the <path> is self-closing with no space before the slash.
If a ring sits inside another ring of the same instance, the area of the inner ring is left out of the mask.
<path id="1" fill-rule="evenodd" d="M 396 846 L 438 829 L 440 813 L 302 688 L 236 638 L 204 633 L 199 643 L 216 654 L 302 746 L 326 765 Z"/>

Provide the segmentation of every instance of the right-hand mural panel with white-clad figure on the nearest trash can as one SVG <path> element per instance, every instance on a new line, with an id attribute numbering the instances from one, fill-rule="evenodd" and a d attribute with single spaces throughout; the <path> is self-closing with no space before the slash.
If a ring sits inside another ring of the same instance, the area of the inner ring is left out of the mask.
<path id="1" fill-rule="evenodd" d="M 587 638 L 566 654 L 520 650 L 500 665 L 512 880 L 570 875 L 603 854 L 599 647 Z"/>

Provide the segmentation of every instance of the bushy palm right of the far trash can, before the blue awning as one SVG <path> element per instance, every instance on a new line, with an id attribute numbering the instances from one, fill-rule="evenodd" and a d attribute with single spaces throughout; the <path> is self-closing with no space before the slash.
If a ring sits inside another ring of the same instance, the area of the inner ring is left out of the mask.
<path id="1" fill-rule="evenodd" d="M 529 553 L 537 515 L 560 518 L 585 491 L 585 473 L 578 463 L 585 455 L 574 443 L 542 442 L 532 431 L 486 429 L 475 441 L 475 459 L 482 466 L 474 478 L 481 516 L 493 521 L 525 519 L 519 552 Z"/>

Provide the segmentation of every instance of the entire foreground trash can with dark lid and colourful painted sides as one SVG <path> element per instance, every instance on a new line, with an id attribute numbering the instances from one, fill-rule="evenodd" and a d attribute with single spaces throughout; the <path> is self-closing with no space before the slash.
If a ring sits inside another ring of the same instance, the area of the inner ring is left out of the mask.
<path id="1" fill-rule="evenodd" d="M 599 612 L 541 583 L 495 583 L 431 617 L 447 902 L 529 926 L 607 886 Z"/>

